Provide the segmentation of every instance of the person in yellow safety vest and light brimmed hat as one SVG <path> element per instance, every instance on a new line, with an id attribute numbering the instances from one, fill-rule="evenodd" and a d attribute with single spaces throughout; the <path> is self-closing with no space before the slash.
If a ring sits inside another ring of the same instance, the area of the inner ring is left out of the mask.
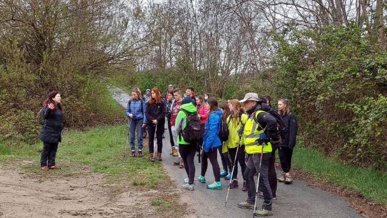
<path id="1" fill-rule="evenodd" d="M 279 143 L 280 137 L 277 127 L 277 120 L 268 111 L 266 99 L 256 93 L 247 93 L 239 102 L 244 103 L 243 107 L 248 115 L 248 119 L 241 129 L 245 151 L 249 155 L 245 175 L 250 171 L 260 172 L 259 185 L 264 193 L 262 208 L 255 210 L 257 216 L 273 215 L 272 201 L 273 195 L 269 185 L 268 169 L 269 158 L 272 155 L 271 142 Z M 262 163 L 260 167 L 262 154 Z M 248 197 L 245 202 L 238 203 L 241 208 L 254 208 L 256 190 L 254 177 L 248 177 L 246 181 Z"/>

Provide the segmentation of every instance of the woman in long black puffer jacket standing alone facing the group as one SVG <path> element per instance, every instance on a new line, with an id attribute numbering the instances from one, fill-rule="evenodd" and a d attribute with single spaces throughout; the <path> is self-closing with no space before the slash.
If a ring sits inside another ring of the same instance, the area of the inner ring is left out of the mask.
<path id="1" fill-rule="evenodd" d="M 60 100 L 59 92 L 52 91 L 43 102 L 44 124 L 40 129 L 40 140 L 43 141 L 43 150 L 40 156 L 42 170 L 59 169 L 55 165 L 55 155 L 58 143 L 61 142 L 60 132 L 63 129 L 63 107 Z"/>

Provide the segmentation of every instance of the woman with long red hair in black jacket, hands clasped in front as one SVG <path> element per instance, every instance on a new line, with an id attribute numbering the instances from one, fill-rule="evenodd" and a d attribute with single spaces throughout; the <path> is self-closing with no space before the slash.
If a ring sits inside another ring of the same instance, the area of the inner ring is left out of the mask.
<path id="1" fill-rule="evenodd" d="M 148 121 L 148 136 L 149 136 L 149 154 L 151 161 L 154 159 L 154 142 L 153 139 L 157 137 L 157 158 L 161 161 L 161 151 L 163 149 L 163 132 L 165 123 L 165 102 L 161 99 L 158 88 L 151 90 L 151 97 L 145 108 L 145 116 Z"/>

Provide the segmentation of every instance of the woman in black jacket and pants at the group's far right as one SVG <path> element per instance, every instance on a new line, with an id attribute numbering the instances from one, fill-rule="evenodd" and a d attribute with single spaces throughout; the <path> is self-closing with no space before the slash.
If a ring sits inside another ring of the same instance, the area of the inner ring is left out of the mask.
<path id="1" fill-rule="evenodd" d="M 290 184 L 293 182 L 293 179 L 290 176 L 290 167 L 292 162 L 293 148 L 296 145 L 297 121 L 294 114 L 290 112 L 288 99 L 278 100 L 278 114 L 282 116 L 282 119 L 287 126 L 286 136 L 282 139 L 281 146 L 278 149 L 281 167 L 283 170 L 282 176 L 278 178 L 278 181 L 285 182 L 285 184 Z"/>

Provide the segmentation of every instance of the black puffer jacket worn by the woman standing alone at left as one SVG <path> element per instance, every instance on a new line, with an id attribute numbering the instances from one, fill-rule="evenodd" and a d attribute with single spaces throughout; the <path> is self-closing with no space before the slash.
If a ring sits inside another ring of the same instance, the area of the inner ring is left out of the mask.
<path id="1" fill-rule="evenodd" d="M 40 140 L 48 143 L 58 143 L 61 141 L 60 132 L 63 130 L 63 113 L 59 110 L 51 110 L 46 106 L 44 109 L 44 125 L 40 129 Z"/>

